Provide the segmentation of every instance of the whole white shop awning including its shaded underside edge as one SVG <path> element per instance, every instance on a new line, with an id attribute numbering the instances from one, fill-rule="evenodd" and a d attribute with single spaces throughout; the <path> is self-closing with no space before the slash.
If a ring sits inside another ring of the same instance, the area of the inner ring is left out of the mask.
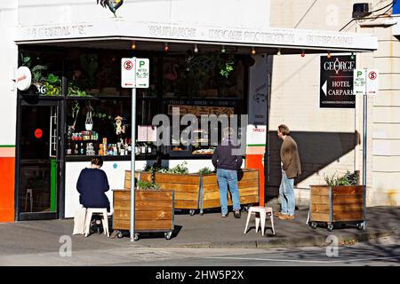
<path id="1" fill-rule="evenodd" d="M 17 44 L 56 44 L 129 49 L 132 41 L 147 44 L 148 50 L 160 50 L 160 43 L 176 44 L 187 49 L 187 44 L 202 44 L 212 48 L 234 46 L 237 52 L 254 47 L 259 53 L 282 54 L 375 51 L 378 41 L 369 34 L 265 28 L 240 29 L 208 26 L 182 26 L 126 20 L 103 20 L 71 25 L 19 27 Z"/>

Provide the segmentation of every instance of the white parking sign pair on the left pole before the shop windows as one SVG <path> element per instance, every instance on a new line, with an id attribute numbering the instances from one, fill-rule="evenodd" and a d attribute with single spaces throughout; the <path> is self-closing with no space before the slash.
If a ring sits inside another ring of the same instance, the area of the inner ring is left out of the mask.
<path id="1" fill-rule="evenodd" d="M 123 88 L 148 88 L 149 75 L 148 59 L 121 59 L 121 86 Z"/>

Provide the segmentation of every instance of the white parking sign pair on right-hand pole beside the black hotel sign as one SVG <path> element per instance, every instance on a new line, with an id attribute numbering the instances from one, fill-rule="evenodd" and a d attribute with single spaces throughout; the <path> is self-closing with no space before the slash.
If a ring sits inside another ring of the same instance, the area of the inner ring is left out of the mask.
<path id="1" fill-rule="evenodd" d="M 355 95 L 375 95 L 380 89 L 379 70 L 356 69 L 354 70 Z"/>

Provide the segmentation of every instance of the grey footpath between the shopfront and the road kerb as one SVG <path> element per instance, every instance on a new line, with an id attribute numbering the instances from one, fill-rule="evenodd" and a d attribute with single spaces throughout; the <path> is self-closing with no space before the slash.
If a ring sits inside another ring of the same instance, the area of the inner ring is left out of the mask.
<path id="1" fill-rule="evenodd" d="M 247 213 L 241 219 L 229 213 L 221 218 L 217 211 L 196 214 L 175 214 L 175 230 L 171 240 L 164 239 L 164 233 L 143 233 L 139 241 L 107 238 L 104 234 L 72 235 L 73 220 L 24 221 L 0 224 L 0 256 L 41 254 L 59 251 L 63 236 L 70 236 L 75 251 L 109 248 L 290 248 L 325 246 L 328 235 L 339 238 L 340 245 L 396 235 L 399 228 L 400 207 L 374 207 L 367 209 L 365 231 L 355 226 L 334 228 L 328 232 L 325 227 L 312 229 L 306 225 L 308 209 L 296 211 L 295 220 L 275 218 L 276 234 L 270 230 L 269 221 L 264 236 L 255 233 L 254 221 L 248 233 L 244 234 Z M 115 235 L 112 234 L 112 235 Z M 61 239 L 60 239 L 61 238 Z M 65 237 L 64 237 L 65 238 Z"/>

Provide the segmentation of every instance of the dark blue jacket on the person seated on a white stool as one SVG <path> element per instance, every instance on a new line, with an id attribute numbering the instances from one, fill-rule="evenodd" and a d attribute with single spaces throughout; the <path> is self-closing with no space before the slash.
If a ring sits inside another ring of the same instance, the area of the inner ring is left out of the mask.
<path id="1" fill-rule="evenodd" d="M 79 202 L 84 208 L 107 208 L 109 201 L 106 192 L 109 190 L 108 178 L 104 170 L 84 169 L 78 177 L 76 189 Z"/>

